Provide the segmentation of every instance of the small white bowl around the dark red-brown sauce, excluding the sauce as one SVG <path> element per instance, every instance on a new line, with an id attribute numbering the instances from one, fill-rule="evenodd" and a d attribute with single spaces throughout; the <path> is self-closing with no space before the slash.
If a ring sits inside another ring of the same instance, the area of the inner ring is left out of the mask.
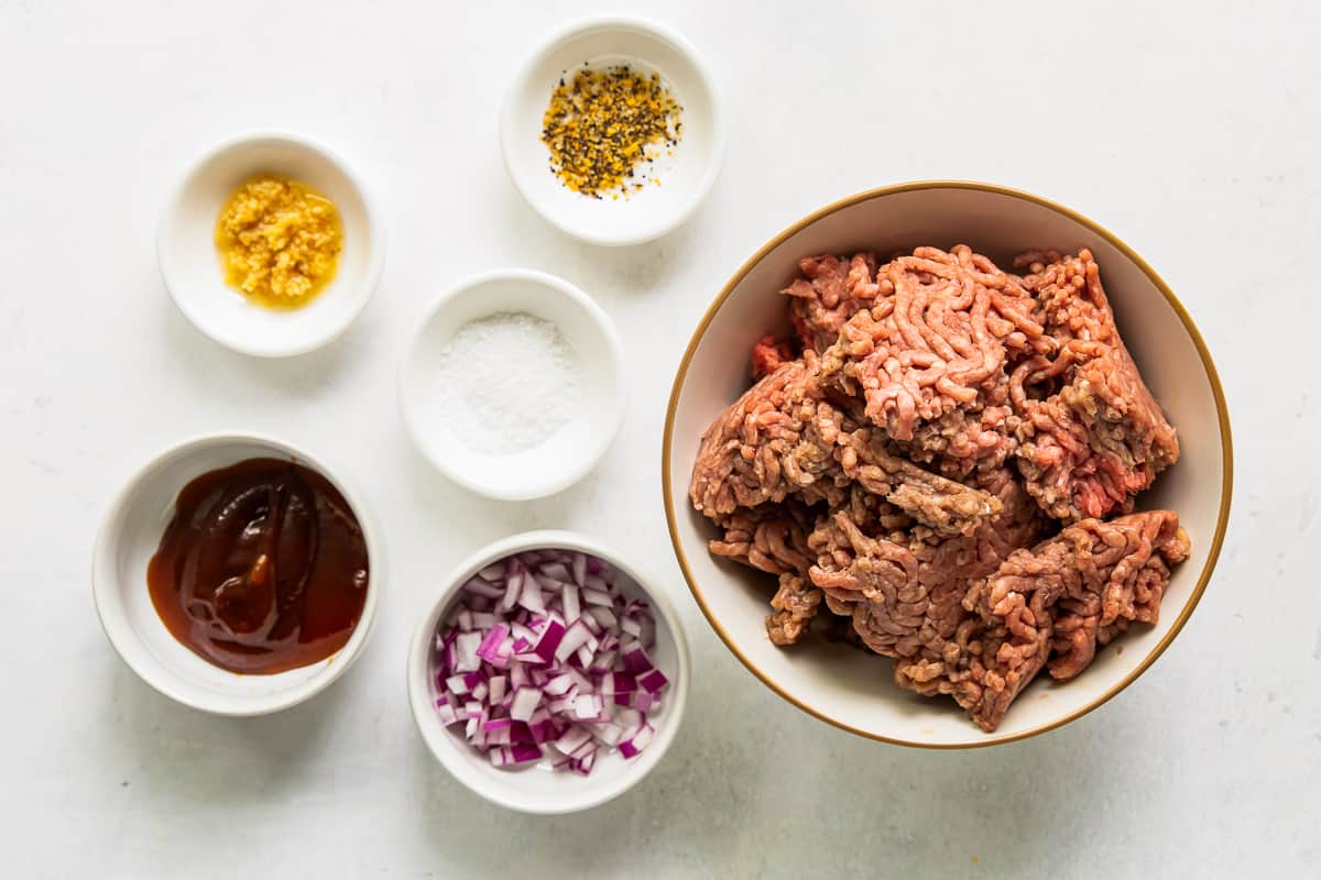
<path id="1" fill-rule="evenodd" d="M 362 617 L 347 644 L 321 662 L 275 676 L 240 676 L 206 662 L 165 628 L 147 591 L 147 563 L 174 515 L 180 489 L 207 471 L 248 458 L 292 458 L 325 476 L 358 517 L 371 566 Z M 198 437 L 165 450 L 133 474 L 106 512 L 91 566 L 96 613 L 129 669 L 170 699 L 218 715 L 267 715 L 325 690 L 367 641 L 384 581 L 384 545 L 363 496 L 306 453 L 252 434 Z"/>

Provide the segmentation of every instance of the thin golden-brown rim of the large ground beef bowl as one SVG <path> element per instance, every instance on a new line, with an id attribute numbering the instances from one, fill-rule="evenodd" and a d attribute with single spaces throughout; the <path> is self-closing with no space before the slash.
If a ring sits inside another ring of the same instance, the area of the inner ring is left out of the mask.
<path id="1" fill-rule="evenodd" d="M 734 288 L 738 286 L 738 284 L 744 280 L 744 277 L 746 277 L 748 273 L 752 272 L 753 268 L 756 268 L 766 257 L 768 253 L 770 253 L 779 244 L 786 241 L 789 237 L 797 235 L 806 227 L 811 226 L 816 220 L 820 220 L 822 218 L 835 214 L 836 211 L 841 211 L 847 207 L 852 207 L 853 204 L 868 202 L 873 198 L 896 195 L 898 193 L 914 193 L 921 190 L 975 190 L 980 193 L 992 193 L 996 195 L 1007 195 L 1013 199 L 1032 202 L 1037 206 L 1054 211 L 1055 214 L 1066 216 L 1074 220 L 1075 223 L 1082 224 L 1083 227 L 1091 230 L 1094 234 L 1096 234 L 1098 236 L 1103 237 L 1106 241 L 1112 244 L 1120 253 L 1123 253 L 1139 269 L 1141 269 L 1143 274 L 1145 274 L 1151 280 L 1151 282 L 1156 285 L 1156 289 L 1160 290 L 1161 294 L 1164 294 L 1165 301 L 1174 310 L 1174 314 L 1178 315 L 1180 322 L 1184 325 L 1184 329 L 1186 330 L 1189 338 L 1193 340 L 1193 344 L 1197 348 L 1197 354 L 1201 358 L 1202 367 L 1206 371 L 1206 379 L 1211 385 L 1211 394 L 1215 398 L 1215 410 L 1219 420 L 1221 438 L 1222 438 L 1221 466 L 1223 470 L 1223 479 L 1221 486 L 1221 507 L 1215 521 L 1215 533 L 1211 537 L 1210 550 L 1206 557 L 1206 565 L 1202 566 L 1202 571 L 1197 579 L 1197 586 L 1193 588 L 1193 594 L 1184 603 L 1184 607 L 1180 610 L 1178 617 L 1174 620 L 1174 624 L 1169 628 L 1169 632 L 1165 633 L 1165 636 L 1160 640 L 1160 643 L 1147 654 L 1147 657 L 1143 658 L 1140 664 L 1137 664 L 1137 666 L 1132 669 L 1132 672 L 1124 676 L 1116 685 L 1102 693 L 1091 702 L 1089 702 L 1086 706 L 1059 719 L 1052 720 L 1046 724 L 1038 724 L 1037 727 L 1033 727 L 1026 731 L 1016 734 L 1005 734 L 1001 736 L 992 735 L 985 738 L 984 740 L 967 741 L 967 743 L 925 743 L 921 740 L 911 740 L 898 736 L 884 736 L 881 734 L 875 734 L 872 731 L 848 724 L 838 718 L 832 718 L 826 712 L 818 711 L 816 708 L 812 708 L 811 706 L 807 706 L 806 703 L 801 702 L 797 697 L 794 697 L 786 689 L 779 686 L 769 674 L 762 672 L 757 666 L 757 664 L 752 661 L 752 658 L 749 658 L 742 650 L 737 648 L 737 645 L 734 645 L 729 633 L 720 624 L 720 621 L 716 620 L 711 608 L 707 606 L 707 600 L 703 596 L 701 587 L 697 586 L 697 579 L 696 577 L 694 577 L 692 570 L 688 566 L 688 559 L 687 555 L 684 554 L 683 544 L 679 540 L 679 525 L 675 513 L 674 497 L 671 496 L 670 492 L 671 476 L 672 476 L 670 468 L 670 458 L 674 449 L 674 421 L 675 421 L 675 412 L 679 405 L 679 394 L 683 391 L 684 381 L 687 380 L 688 365 L 692 361 L 694 354 L 696 354 L 697 351 L 697 344 L 701 342 L 712 319 L 716 317 L 716 313 L 720 311 L 721 306 L 724 306 L 725 299 L 729 298 Z M 715 629 L 717 636 L 720 636 L 720 640 L 725 644 L 725 646 L 731 650 L 731 653 L 733 653 L 734 657 L 737 657 L 738 661 L 742 662 L 744 666 L 746 666 L 748 672 L 750 672 L 758 679 L 761 679 L 761 682 L 766 685 L 770 690 L 773 690 L 775 694 L 782 697 L 789 703 L 807 712 L 808 715 L 819 720 L 823 720 L 828 724 L 832 724 L 840 730 L 848 731 L 849 734 L 856 734 L 857 736 L 864 736 L 867 739 L 872 739 L 880 743 L 890 743 L 894 745 L 909 745 L 913 748 L 929 748 L 929 749 L 985 748 L 989 745 L 1003 745 L 1005 743 L 1015 743 L 1018 740 L 1024 740 L 1032 736 L 1037 736 L 1038 734 L 1045 734 L 1048 731 L 1055 730 L 1057 727 L 1062 727 L 1069 722 L 1082 718 L 1083 715 L 1102 706 L 1103 703 L 1108 702 L 1122 690 L 1133 683 L 1144 672 L 1147 672 L 1148 668 L 1151 668 L 1153 662 L 1156 662 L 1156 660 L 1165 652 L 1165 649 L 1170 645 L 1170 643 L 1174 641 L 1174 637 L 1184 628 L 1184 624 L 1188 623 L 1188 619 L 1193 615 L 1193 611 L 1201 602 L 1202 594 L 1206 591 L 1206 584 L 1210 582 L 1211 573 L 1215 570 L 1215 563 L 1219 559 L 1221 546 L 1225 542 L 1225 532 L 1226 528 L 1229 526 L 1230 501 L 1232 493 L 1234 493 L 1234 441 L 1230 434 L 1230 414 L 1229 414 L 1229 406 L 1226 405 L 1225 401 L 1225 389 L 1221 385 L 1219 373 L 1215 371 L 1215 363 L 1211 360 L 1211 352 L 1206 347 L 1206 342 L 1202 339 L 1202 334 L 1198 331 L 1197 325 L 1193 322 L 1193 317 L 1189 314 L 1184 303 L 1178 301 L 1178 297 L 1174 296 L 1174 292 L 1169 288 L 1169 285 L 1165 284 L 1164 278 L 1161 278 L 1156 273 L 1156 270 L 1141 256 L 1139 256 L 1137 252 L 1133 251 L 1133 248 L 1131 248 L 1127 243 L 1124 243 L 1118 235 L 1115 235 L 1106 227 L 1100 226 L 1095 220 L 1079 214 L 1078 211 L 1074 211 L 1073 208 L 1065 207 L 1058 202 L 1053 202 L 1033 193 L 1013 189 L 1009 186 L 1001 186 L 999 183 L 984 183 L 979 181 L 923 179 L 923 181 L 893 183 L 889 186 L 878 186 L 869 190 L 863 190 L 860 193 L 855 193 L 853 195 L 848 195 L 835 202 L 831 202 L 830 204 L 826 204 L 824 207 L 820 207 L 807 214 L 804 218 L 790 224 L 778 235 L 775 235 L 773 239 L 770 239 L 766 244 L 758 248 L 734 272 L 734 274 L 731 276 L 729 281 L 725 282 L 724 288 L 721 288 L 715 301 L 712 301 L 712 303 L 707 307 L 707 311 L 703 314 L 701 321 L 697 323 L 696 330 L 694 330 L 692 338 L 688 342 L 688 347 L 684 350 L 683 358 L 679 361 L 679 367 L 675 371 L 674 385 L 670 389 L 670 401 L 666 409 L 664 433 L 660 443 L 660 495 L 664 501 L 664 516 L 666 516 L 666 524 L 668 525 L 670 529 L 670 542 L 674 545 L 674 553 L 675 557 L 678 558 L 679 569 L 683 571 L 683 579 L 687 582 L 688 590 L 692 592 L 692 598 L 696 600 L 697 607 L 701 608 L 701 613 L 703 616 L 705 616 L 707 623 L 711 624 L 711 628 Z"/>

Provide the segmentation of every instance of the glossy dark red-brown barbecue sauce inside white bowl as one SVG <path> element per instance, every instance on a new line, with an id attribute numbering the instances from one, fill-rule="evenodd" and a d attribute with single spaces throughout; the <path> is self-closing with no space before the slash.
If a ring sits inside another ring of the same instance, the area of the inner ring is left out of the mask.
<path id="1" fill-rule="evenodd" d="M 252 458 L 184 487 L 147 587 L 185 646 L 222 669 L 268 676 L 349 641 L 367 596 L 367 546 L 324 476 Z"/>

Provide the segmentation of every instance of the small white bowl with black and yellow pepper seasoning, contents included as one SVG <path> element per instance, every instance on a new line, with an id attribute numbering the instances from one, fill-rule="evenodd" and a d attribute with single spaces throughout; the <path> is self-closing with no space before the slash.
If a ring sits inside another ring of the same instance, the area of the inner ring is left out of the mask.
<path id="1" fill-rule="evenodd" d="M 501 149 L 543 218 L 593 244 L 639 244 L 692 216 L 724 154 L 719 92 L 682 36 L 592 18 L 548 37 L 501 111 Z"/>

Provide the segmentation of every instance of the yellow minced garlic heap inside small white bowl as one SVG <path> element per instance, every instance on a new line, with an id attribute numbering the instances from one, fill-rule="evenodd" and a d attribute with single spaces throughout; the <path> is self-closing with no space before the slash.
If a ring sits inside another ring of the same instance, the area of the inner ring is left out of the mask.
<path id="1" fill-rule="evenodd" d="M 225 280 L 256 302 L 306 303 L 334 277 L 343 249 L 339 211 L 305 183 L 254 177 L 230 197 L 215 223 Z"/>

